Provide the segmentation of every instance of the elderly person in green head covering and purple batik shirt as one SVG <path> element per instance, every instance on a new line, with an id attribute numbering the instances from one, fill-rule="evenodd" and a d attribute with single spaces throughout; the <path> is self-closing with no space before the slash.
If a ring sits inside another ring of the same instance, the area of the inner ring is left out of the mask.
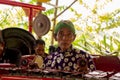
<path id="1" fill-rule="evenodd" d="M 90 54 L 72 46 L 76 34 L 71 21 L 60 21 L 54 29 L 54 38 L 58 42 L 58 47 L 55 52 L 45 59 L 46 69 L 81 72 L 84 74 L 95 70 Z"/>

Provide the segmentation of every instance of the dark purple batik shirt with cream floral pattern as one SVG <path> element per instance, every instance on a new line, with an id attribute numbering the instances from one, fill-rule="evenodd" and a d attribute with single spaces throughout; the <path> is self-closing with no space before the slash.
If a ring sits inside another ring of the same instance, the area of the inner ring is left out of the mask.
<path id="1" fill-rule="evenodd" d="M 45 58 L 44 64 L 46 69 L 57 69 L 69 72 L 80 72 L 79 61 L 84 59 L 90 71 L 95 70 L 91 56 L 82 51 L 70 48 L 64 52 L 58 47 L 54 53 Z"/>

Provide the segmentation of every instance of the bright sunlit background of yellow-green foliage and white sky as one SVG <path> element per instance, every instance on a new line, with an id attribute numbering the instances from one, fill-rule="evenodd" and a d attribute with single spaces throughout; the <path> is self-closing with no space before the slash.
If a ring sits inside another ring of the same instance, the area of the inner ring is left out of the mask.
<path id="1" fill-rule="evenodd" d="M 36 0 L 15 0 L 37 5 Z M 73 5 L 71 5 L 74 2 Z M 77 38 L 73 42 L 75 47 L 84 49 L 91 54 L 119 55 L 120 53 L 120 0 L 50 0 L 42 3 L 45 7 L 43 14 L 51 21 L 51 30 L 42 38 L 46 41 L 46 51 L 50 45 L 57 45 L 53 41 L 52 29 L 55 27 L 54 11 L 58 8 L 57 15 L 67 10 L 56 18 L 56 22 L 69 19 L 76 28 Z M 0 4 L 0 28 L 20 27 L 28 30 L 28 16 L 21 7 Z M 17 16 L 17 18 L 15 18 Z M 32 32 L 36 37 L 34 31 Z M 53 42 L 53 43 L 52 43 Z"/>

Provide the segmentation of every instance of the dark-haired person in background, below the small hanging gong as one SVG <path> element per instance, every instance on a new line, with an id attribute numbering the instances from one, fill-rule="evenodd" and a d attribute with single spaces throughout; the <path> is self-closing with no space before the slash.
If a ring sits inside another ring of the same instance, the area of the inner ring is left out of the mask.
<path id="1" fill-rule="evenodd" d="M 33 61 L 30 63 L 30 67 L 41 68 L 45 57 L 48 55 L 47 53 L 45 53 L 45 41 L 42 39 L 36 40 L 34 50 L 35 50 L 34 53 L 35 57 Z"/>

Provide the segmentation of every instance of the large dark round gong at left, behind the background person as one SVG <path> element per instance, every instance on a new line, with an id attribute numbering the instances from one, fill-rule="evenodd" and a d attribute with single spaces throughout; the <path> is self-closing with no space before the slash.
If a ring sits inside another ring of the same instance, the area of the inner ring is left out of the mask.
<path id="1" fill-rule="evenodd" d="M 7 48 L 17 48 L 22 52 L 22 55 L 32 54 L 35 38 L 30 32 L 11 27 L 3 29 L 2 36 Z"/>

